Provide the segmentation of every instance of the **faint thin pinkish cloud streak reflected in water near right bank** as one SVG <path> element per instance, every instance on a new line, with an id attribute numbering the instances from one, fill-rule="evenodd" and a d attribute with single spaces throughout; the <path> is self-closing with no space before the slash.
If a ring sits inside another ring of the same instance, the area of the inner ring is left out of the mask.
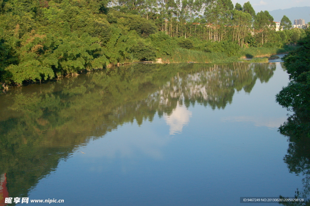
<path id="1" fill-rule="evenodd" d="M 253 122 L 256 127 L 269 127 L 270 129 L 278 128 L 283 122 L 286 121 L 286 117 L 255 117 L 255 116 L 228 116 L 222 118 L 223 122 Z"/>

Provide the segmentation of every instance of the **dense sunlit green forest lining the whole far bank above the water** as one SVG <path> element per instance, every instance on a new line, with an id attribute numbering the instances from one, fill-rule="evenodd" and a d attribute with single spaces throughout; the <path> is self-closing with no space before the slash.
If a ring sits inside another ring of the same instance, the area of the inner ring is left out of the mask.
<path id="1" fill-rule="evenodd" d="M 304 34 L 276 32 L 268 11 L 231 0 L 0 0 L 0 19 L 0 82 L 7 84 L 158 58 L 232 62 L 260 49 L 284 52 Z"/>

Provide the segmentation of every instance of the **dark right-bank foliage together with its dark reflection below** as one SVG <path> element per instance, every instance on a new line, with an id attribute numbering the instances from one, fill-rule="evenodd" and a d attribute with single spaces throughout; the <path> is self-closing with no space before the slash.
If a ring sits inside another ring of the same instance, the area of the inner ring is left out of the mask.
<path id="1" fill-rule="evenodd" d="M 276 101 L 291 112 L 279 127 L 279 132 L 288 136 L 289 148 L 284 157 L 290 173 L 304 176 L 303 190 L 295 191 L 295 198 L 304 198 L 310 192 L 309 145 L 310 145 L 310 31 L 299 41 L 300 47 L 283 57 L 290 82 L 276 95 Z M 281 198 L 282 196 L 280 196 Z M 309 205 L 305 198 L 298 205 Z M 283 202 L 296 205 L 296 202 Z"/>

